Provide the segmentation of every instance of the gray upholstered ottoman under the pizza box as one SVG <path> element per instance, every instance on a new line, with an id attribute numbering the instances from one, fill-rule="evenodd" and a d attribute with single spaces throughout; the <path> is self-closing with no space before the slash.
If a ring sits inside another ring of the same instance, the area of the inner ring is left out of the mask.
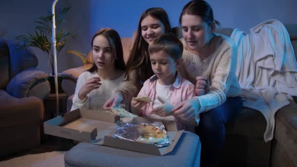
<path id="1" fill-rule="evenodd" d="M 156 156 L 108 146 L 79 143 L 66 152 L 65 167 L 199 167 L 199 137 L 184 131 L 174 149 Z"/>

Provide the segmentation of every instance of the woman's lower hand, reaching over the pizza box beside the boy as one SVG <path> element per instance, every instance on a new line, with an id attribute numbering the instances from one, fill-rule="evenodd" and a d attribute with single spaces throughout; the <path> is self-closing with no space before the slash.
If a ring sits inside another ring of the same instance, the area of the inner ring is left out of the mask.
<path id="1" fill-rule="evenodd" d="M 181 120 L 190 121 L 196 118 L 199 108 L 199 101 L 196 98 L 192 98 L 176 105 L 172 109 L 172 114 Z"/>

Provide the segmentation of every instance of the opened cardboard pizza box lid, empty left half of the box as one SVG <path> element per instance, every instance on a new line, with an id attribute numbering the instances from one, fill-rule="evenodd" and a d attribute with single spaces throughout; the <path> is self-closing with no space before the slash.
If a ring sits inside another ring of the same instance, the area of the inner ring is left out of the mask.
<path id="1" fill-rule="evenodd" d="M 119 116 L 107 112 L 76 109 L 44 122 L 43 127 L 45 134 L 91 143 L 96 140 L 98 130 L 116 126 L 119 120 Z"/>

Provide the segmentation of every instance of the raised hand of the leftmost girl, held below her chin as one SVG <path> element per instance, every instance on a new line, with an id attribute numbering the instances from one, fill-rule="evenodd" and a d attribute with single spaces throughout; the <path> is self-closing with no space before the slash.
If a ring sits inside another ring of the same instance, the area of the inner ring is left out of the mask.
<path id="1" fill-rule="evenodd" d="M 101 79 L 99 77 L 93 77 L 86 80 L 85 84 L 81 87 L 78 92 L 78 97 L 81 100 L 84 100 L 86 95 L 89 94 L 92 90 L 98 89 L 101 85 Z"/>

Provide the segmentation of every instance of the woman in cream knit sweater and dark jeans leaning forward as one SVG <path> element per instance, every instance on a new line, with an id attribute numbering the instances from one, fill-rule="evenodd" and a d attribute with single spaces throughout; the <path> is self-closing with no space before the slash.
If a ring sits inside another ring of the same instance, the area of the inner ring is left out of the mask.
<path id="1" fill-rule="evenodd" d="M 233 121 L 242 109 L 241 88 L 234 73 L 237 48 L 230 38 L 213 33 L 218 22 L 204 0 L 186 4 L 179 23 L 185 48 L 180 73 L 196 84 L 196 94 L 201 96 L 176 105 L 172 112 L 184 120 L 200 116 L 196 133 L 202 144 L 201 166 L 216 166 L 224 145 L 225 123 Z"/>

